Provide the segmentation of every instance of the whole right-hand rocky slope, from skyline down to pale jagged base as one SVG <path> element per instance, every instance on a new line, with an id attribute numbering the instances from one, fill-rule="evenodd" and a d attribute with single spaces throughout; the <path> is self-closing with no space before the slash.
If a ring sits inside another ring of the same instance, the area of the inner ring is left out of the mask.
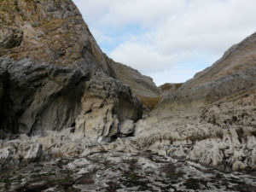
<path id="1" fill-rule="evenodd" d="M 164 96 L 137 122 L 137 145 L 221 170 L 256 169 L 256 33 Z"/>

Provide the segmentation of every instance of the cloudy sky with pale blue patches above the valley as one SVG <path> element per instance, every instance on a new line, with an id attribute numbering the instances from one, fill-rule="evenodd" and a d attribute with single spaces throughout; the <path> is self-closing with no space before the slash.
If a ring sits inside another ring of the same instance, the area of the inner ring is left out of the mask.
<path id="1" fill-rule="evenodd" d="M 256 0 L 73 0 L 103 52 L 181 83 L 256 32 Z"/>

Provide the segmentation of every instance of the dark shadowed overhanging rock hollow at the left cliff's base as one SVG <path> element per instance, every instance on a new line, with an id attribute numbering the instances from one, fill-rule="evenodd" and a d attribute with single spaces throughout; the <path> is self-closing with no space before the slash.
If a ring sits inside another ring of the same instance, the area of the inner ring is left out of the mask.
<path id="1" fill-rule="evenodd" d="M 0 63 L 9 77 L 4 83 L 1 113 L 5 131 L 33 135 L 73 124 L 88 73 L 26 59 L 0 59 Z"/>

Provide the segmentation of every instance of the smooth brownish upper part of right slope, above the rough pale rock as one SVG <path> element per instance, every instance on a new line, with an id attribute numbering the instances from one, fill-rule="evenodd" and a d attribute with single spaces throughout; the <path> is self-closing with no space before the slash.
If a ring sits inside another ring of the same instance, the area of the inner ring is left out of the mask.
<path id="1" fill-rule="evenodd" d="M 255 69 L 256 33 L 253 33 L 228 49 L 212 67 L 195 74 L 173 96 L 166 97 L 160 110 L 199 108 L 247 90 L 256 84 Z"/>

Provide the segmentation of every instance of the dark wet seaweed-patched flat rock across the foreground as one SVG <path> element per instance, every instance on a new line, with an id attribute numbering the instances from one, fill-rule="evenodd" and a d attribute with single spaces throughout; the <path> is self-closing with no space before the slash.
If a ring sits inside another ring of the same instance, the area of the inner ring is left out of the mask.
<path id="1" fill-rule="evenodd" d="M 1 172 L 0 191 L 247 191 L 256 172 L 219 172 L 148 152 L 92 153 Z"/>

